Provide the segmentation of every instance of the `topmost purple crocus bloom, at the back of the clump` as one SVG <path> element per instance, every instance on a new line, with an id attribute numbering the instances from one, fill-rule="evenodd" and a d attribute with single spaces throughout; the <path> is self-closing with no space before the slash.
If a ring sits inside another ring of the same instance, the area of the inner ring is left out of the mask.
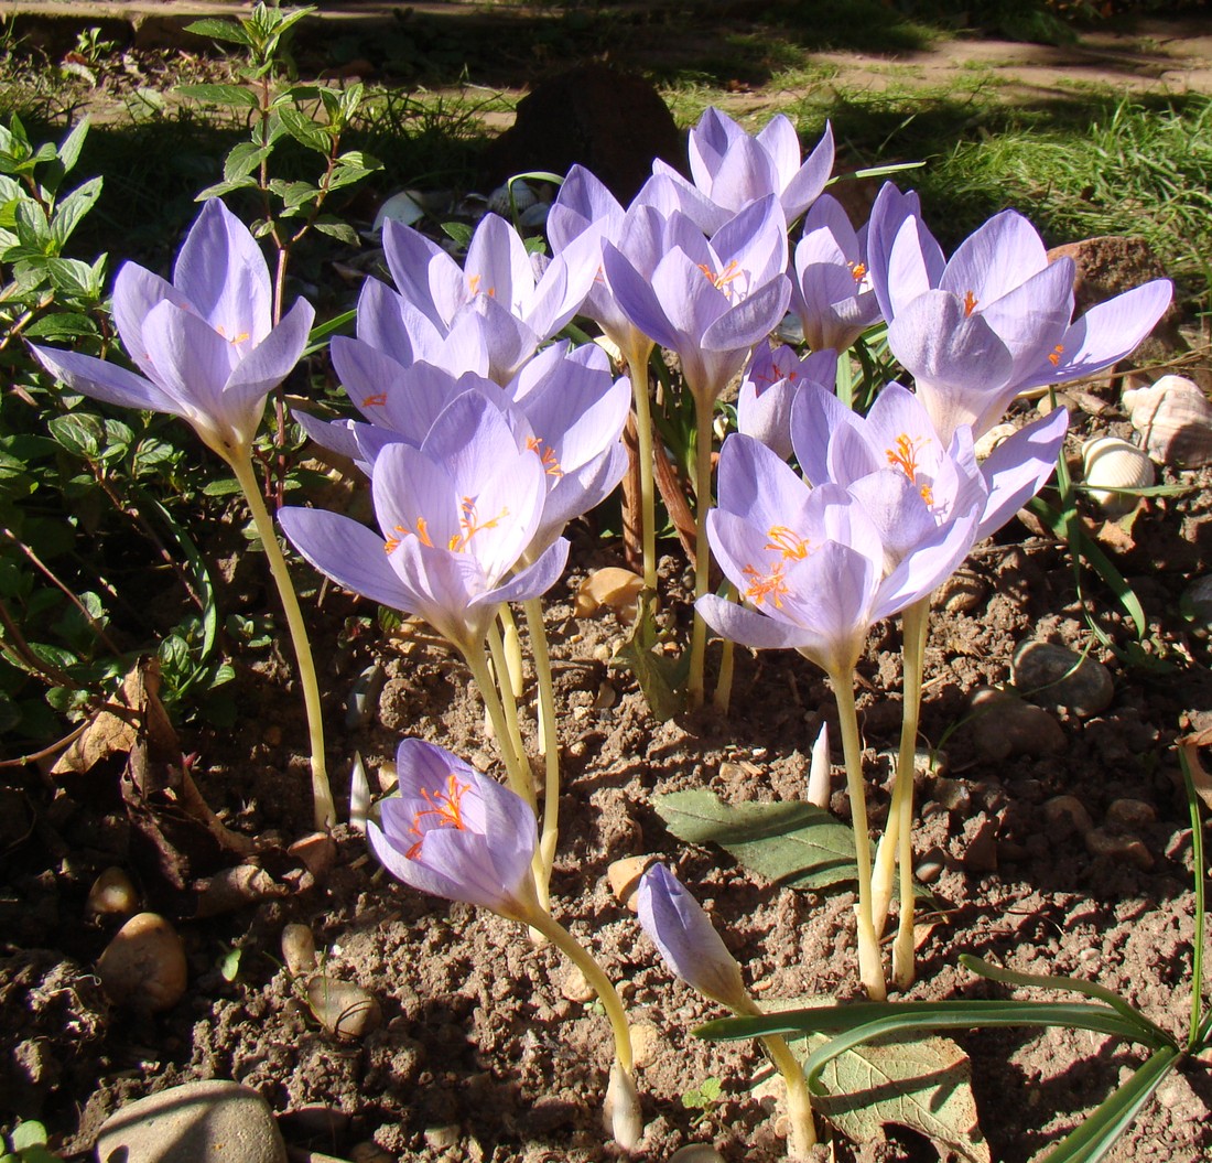
<path id="1" fill-rule="evenodd" d="M 726 113 L 708 109 L 690 131 L 687 182 L 673 166 L 657 159 L 652 172 L 675 186 L 681 210 L 707 234 L 751 203 L 773 194 L 790 226 L 817 199 L 834 164 L 833 129 L 825 131 L 801 164 L 800 138 L 783 114 L 756 136 L 747 133 Z"/>

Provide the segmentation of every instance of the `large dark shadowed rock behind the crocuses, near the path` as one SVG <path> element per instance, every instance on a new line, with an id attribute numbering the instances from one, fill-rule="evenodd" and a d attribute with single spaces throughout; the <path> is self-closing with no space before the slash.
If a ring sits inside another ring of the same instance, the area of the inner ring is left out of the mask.
<path id="1" fill-rule="evenodd" d="M 566 173 L 581 163 L 625 206 L 652 176 L 653 158 L 682 169 L 684 154 L 673 114 L 648 81 L 584 63 L 533 86 L 484 165 L 496 184 L 531 170 Z"/>

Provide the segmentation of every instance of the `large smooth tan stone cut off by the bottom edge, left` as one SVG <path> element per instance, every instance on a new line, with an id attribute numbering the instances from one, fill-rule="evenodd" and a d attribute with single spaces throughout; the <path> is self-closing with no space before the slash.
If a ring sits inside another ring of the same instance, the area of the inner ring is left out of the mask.
<path id="1" fill-rule="evenodd" d="M 286 1163 L 264 1099 L 235 1082 L 170 1087 L 112 1114 L 97 1136 L 98 1163 Z"/>

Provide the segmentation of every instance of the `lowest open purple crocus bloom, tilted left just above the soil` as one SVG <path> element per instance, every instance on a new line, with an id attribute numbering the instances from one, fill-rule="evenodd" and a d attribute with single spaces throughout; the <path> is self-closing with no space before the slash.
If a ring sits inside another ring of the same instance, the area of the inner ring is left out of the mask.
<path id="1" fill-rule="evenodd" d="M 399 794 L 367 821 L 375 855 L 398 880 L 513 920 L 538 911 L 531 806 L 457 756 L 419 739 L 395 754 Z"/>

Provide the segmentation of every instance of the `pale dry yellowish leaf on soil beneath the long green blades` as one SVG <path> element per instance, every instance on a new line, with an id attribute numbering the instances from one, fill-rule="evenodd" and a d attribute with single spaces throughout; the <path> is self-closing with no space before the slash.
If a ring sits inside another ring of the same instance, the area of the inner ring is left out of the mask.
<path id="1" fill-rule="evenodd" d="M 810 1039 L 807 1049 L 823 1042 Z M 989 1163 L 971 1064 L 950 1038 L 911 1034 L 856 1047 L 825 1067 L 821 1088 L 813 1106 L 857 1144 L 884 1141 L 884 1127 L 896 1123 L 967 1163 Z"/>

